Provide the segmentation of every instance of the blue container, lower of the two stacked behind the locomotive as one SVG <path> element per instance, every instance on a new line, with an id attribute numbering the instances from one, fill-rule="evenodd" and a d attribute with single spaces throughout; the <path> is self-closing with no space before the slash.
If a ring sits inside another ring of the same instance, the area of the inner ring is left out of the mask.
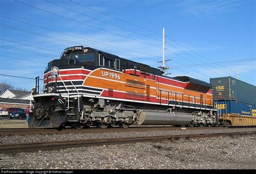
<path id="1" fill-rule="evenodd" d="M 215 108 L 222 114 L 240 114 L 256 116 L 256 105 L 235 102 L 233 100 L 217 101 Z"/>

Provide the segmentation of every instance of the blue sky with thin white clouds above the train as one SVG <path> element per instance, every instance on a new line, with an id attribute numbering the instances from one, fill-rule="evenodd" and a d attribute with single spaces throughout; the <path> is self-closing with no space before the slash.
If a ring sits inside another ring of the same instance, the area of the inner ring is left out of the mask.
<path id="1" fill-rule="evenodd" d="M 43 78 L 47 63 L 76 45 L 158 67 L 165 27 L 168 76 L 209 82 L 239 69 L 239 79 L 256 85 L 255 8 L 254 0 L 1 0 L 0 74 Z M 6 76 L 1 82 L 35 85 Z"/>

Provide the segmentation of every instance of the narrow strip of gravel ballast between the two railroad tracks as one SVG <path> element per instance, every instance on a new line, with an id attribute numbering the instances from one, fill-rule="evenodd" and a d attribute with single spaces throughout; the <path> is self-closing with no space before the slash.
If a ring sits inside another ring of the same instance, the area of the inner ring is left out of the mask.
<path id="1" fill-rule="evenodd" d="M 67 133 L 67 134 L 33 134 L 33 135 L 6 135 L 0 136 L 2 144 L 16 144 L 29 142 L 50 142 L 66 140 L 108 139 L 115 137 L 143 137 L 143 136 L 168 136 L 185 134 L 212 134 L 251 132 L 256 128 L 229 128 L 229 129 L 194 129 L 194 130 L 170 130 L 170 131 L 137 131 L 137 132 L 107 132 L 107 133 Z"/>

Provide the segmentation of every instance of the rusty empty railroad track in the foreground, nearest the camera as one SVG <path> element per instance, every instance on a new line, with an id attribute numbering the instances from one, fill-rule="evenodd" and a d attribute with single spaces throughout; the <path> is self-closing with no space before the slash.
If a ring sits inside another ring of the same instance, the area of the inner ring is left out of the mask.
<path id="1" fill-rule="evenodd" d="M 241 136 L 241 135 L 255 135 L 255 134 L 256 134 L 256 131 L 235 132 L 235 133 L 188 134 L 188 135 L 149 136 L 149 137 L 122 137 L 122 138 L 111 138 L 111 139 L 2 144 L 2 145 L 0 145 L 0 153 L 2 153 L 2 154 L 33 153 L 33 152 L 38 152 L 38 151 L 51 151 L 51 150 L 60 150 L 60 149 L 66 149 L 66 148 L 103 146 L 103 145 L 110 145 L 110 144 L 172 141 L 172 140 L 190 140 L 190 139 L 200 139 L 200 138 L 205 138 L 205 137 L 227 137 L 227 136 Z"/>

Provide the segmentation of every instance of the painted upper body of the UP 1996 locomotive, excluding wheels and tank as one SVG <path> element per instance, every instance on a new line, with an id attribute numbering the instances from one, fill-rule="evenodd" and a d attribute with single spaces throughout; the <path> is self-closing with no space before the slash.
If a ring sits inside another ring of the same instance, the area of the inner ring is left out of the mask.
<path id="1" fill-rule="evenodd" d="M 83 57 L 87 60 L 82 61 Z M 56 79 L 51 78 L 53 70 L 57 71 Z M 57 92 L 70 97 L 77 96 L 78 90 L 84 97 L 127 102 L 206 110 L 213 105 L 211 85 L 206 82 L 163 76 L 159 69 L 89 47 L 49 62 L 44 85 L 48 83 L 56 83 Z"/>

